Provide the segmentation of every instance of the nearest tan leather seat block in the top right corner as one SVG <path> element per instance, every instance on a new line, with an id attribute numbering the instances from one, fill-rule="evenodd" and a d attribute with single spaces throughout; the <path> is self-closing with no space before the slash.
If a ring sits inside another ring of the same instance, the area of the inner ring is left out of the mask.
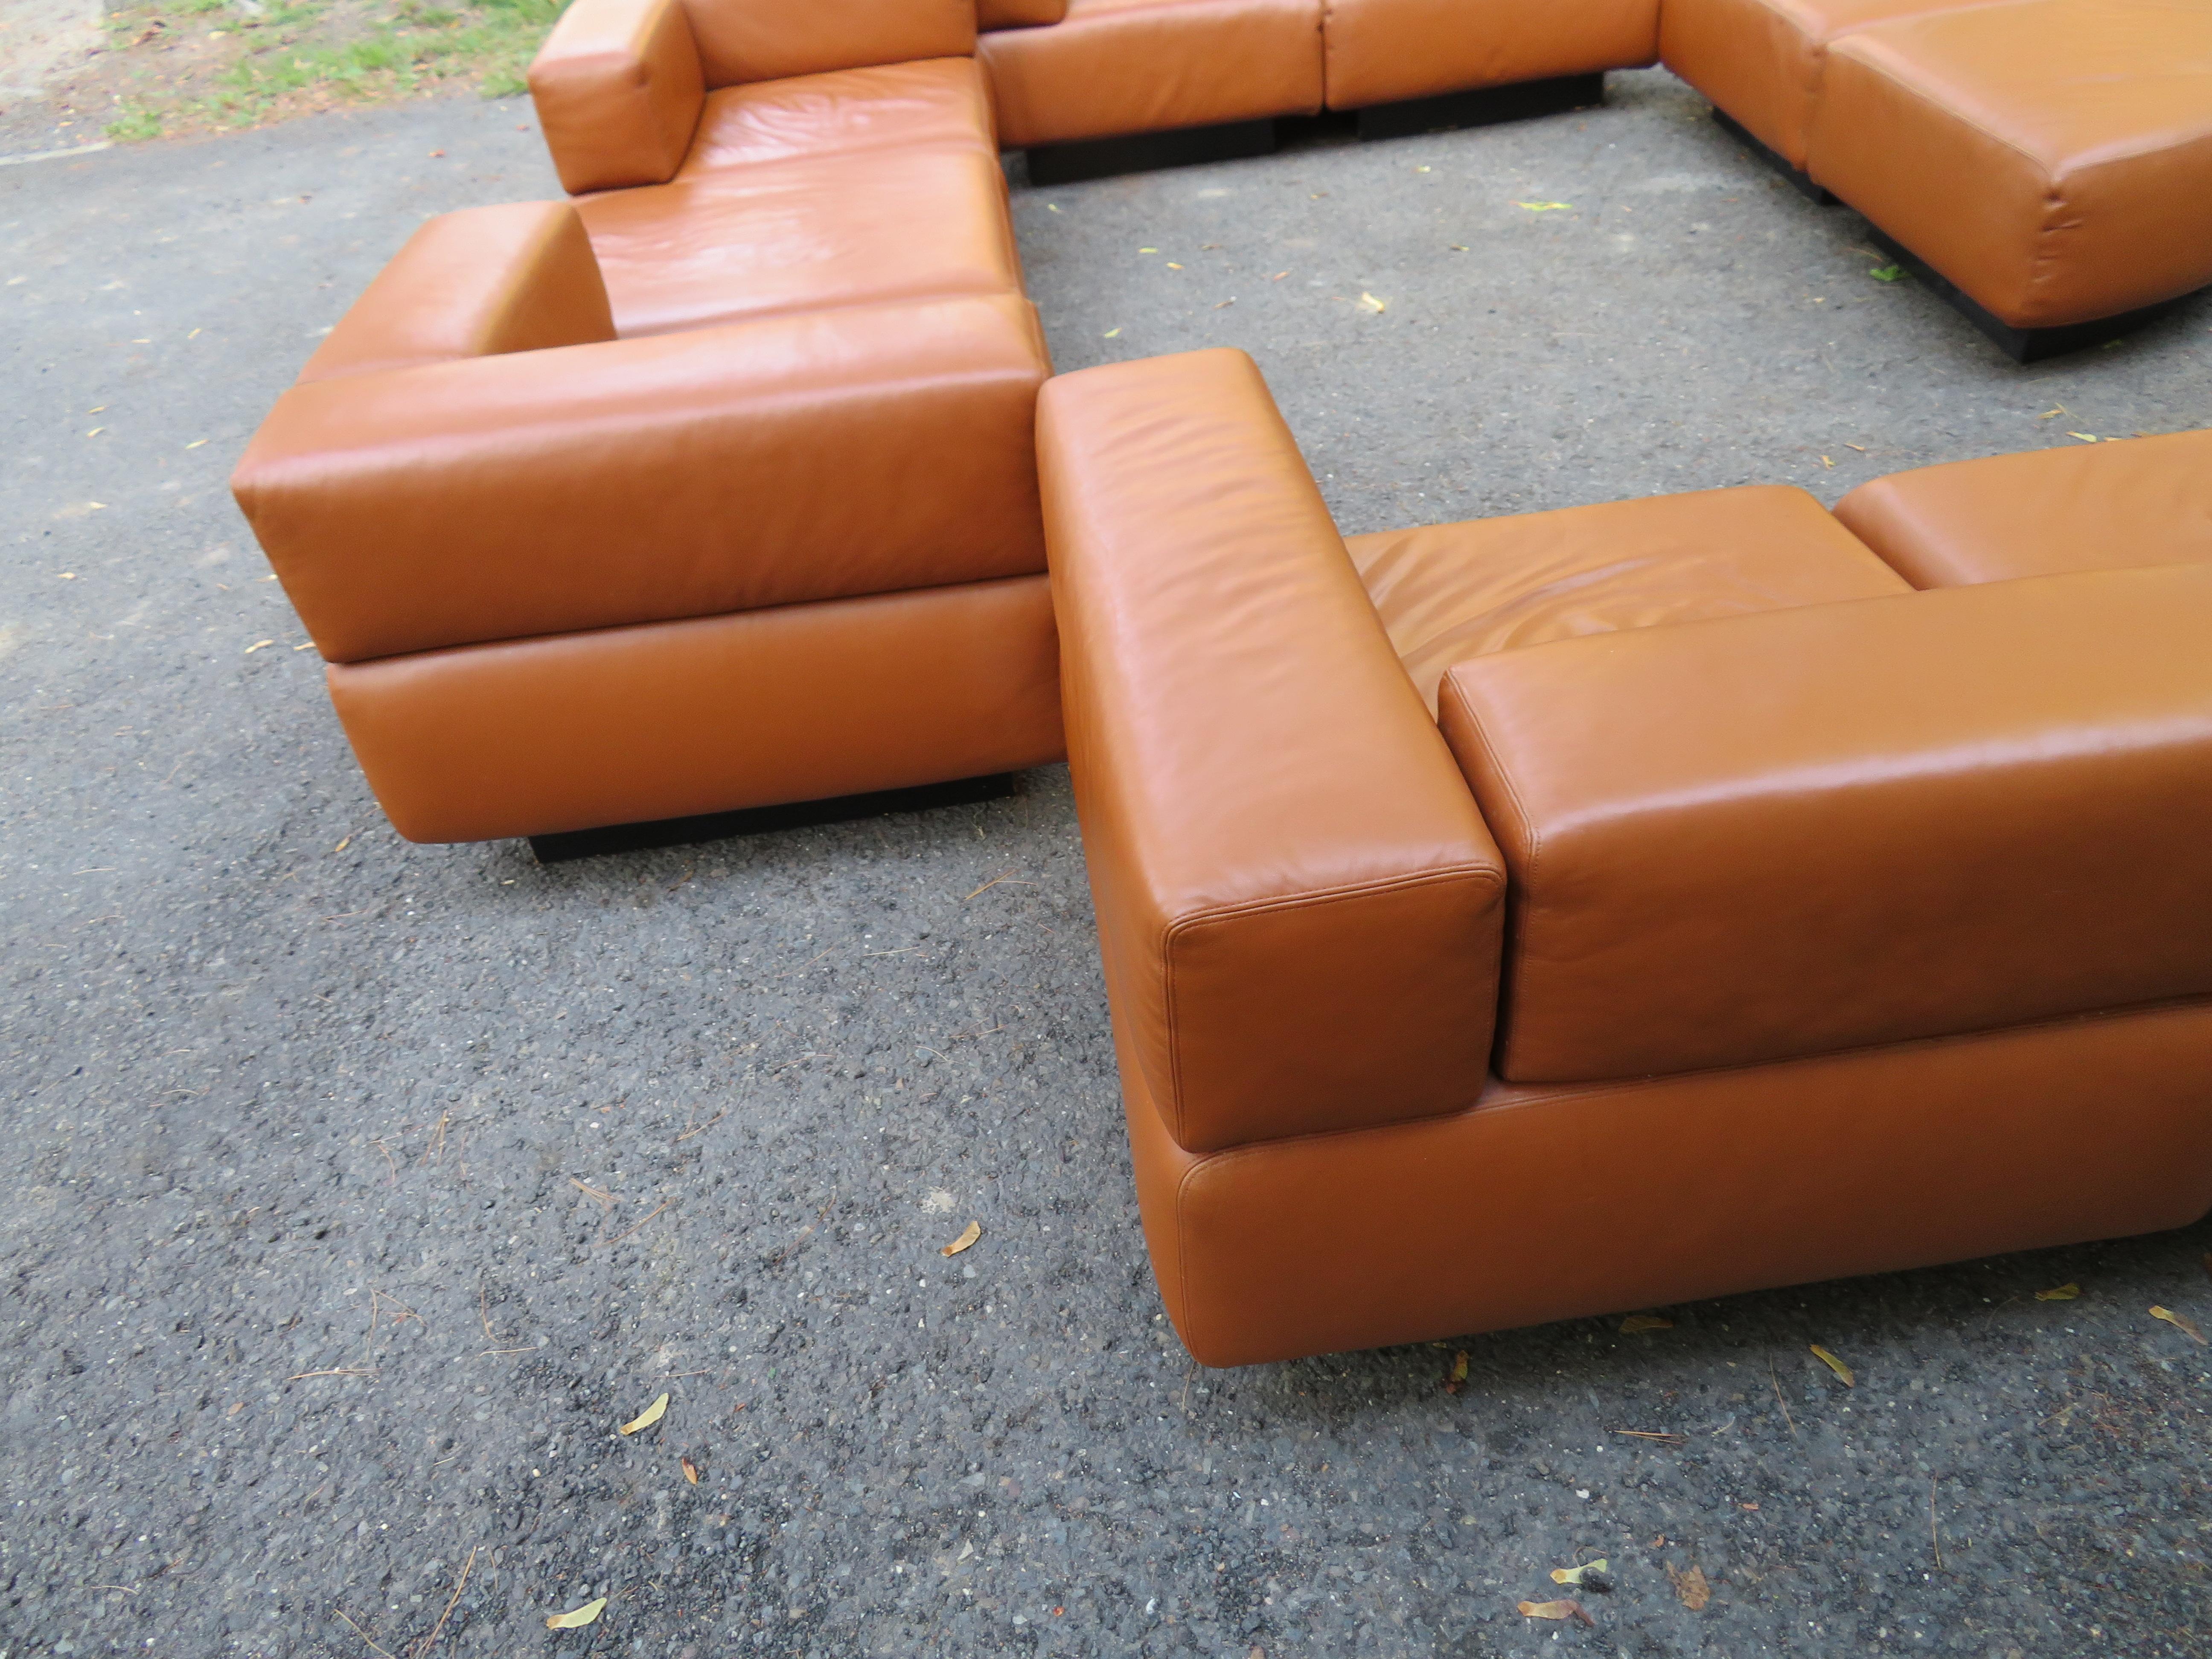
<path id="1" fill-rule="evenodd" d="M 1820 184 L 2013 327 L 2212 281 L 2212 7 L 2017 0 L 1827 55 Z"/>

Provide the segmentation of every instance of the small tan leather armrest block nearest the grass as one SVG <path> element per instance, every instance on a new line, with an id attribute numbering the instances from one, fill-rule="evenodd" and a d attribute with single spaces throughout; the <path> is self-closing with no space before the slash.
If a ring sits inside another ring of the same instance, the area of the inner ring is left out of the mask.
<path id="1" fill-rule="evenodd" d="M 571 195 L 668 184 L 706 108 L 684 0 L 575 0 L 531 62 L 531 102 Z"/>

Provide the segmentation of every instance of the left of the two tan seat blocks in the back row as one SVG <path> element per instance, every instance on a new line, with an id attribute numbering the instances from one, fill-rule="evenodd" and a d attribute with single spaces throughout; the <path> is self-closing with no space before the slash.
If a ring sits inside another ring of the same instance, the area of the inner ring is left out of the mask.
<path id="1" fill-rule="evenodd" d="M 982 38 L 1002 144 L 1312 115 L 1321 0 L 1071 0 L 1066 22 Z"/>

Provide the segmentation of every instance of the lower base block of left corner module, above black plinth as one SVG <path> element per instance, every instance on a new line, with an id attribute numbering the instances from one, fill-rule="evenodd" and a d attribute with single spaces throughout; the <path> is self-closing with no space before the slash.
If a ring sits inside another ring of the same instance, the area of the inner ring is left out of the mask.
<path id="1" fill-rule="evenodd" d="M 1042 575 L 338 664 L 394 827 L 491 841 L 1057 761 Z"/>

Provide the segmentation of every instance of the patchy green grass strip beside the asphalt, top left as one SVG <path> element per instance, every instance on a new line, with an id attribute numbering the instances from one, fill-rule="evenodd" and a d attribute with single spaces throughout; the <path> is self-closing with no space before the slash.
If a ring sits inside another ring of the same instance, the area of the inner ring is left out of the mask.
<path id="1" fill-rule="evenodd" d="M 243 15 L 230 0 L 133 7 L 108 15 L 108 58 L 122 60 L 111 73 L 122 91 L 106 131 L 148 139 L 263 126 L 338 104 L 471 86 L 484 97 L 515 97 L 564 4 L 279 0 Z"/>

